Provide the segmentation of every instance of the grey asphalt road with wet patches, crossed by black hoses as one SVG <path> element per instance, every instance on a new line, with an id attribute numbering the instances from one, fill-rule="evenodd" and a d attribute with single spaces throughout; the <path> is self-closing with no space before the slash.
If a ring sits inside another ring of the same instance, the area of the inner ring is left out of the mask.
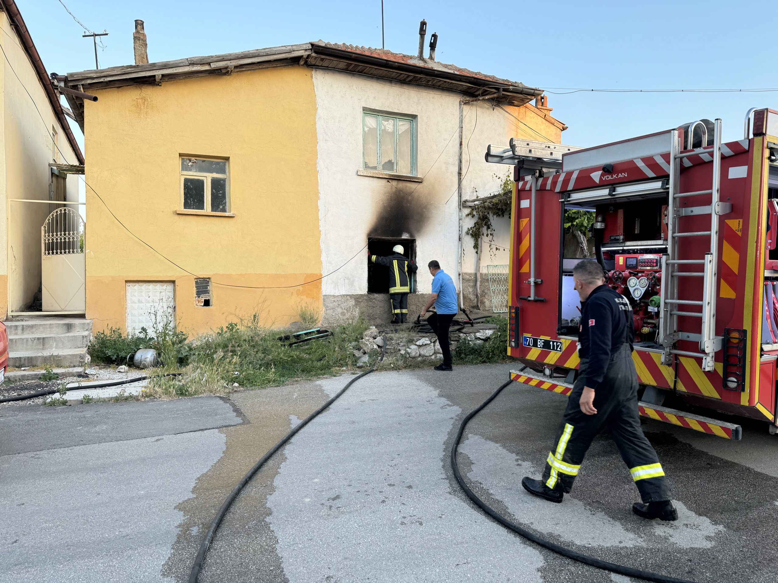
<path id="1" fill-rule="evenodd" d="M 475 508 L 448 452 L 509 365 L 377 372 L 244 490 L 201 581 L 629 581 L 538 548 Z M 0 408 L 0 581 L 186 581 L 212 516 L 261 455 L 348 377 L 230 399 Z M 460 465 L 495 508 L 604 560 L 693 581 L 775 581 L 778 437 L 649 421 L 681 520 L 647 522 L 608 435 L 562 504 L 530 497 L 565 397 L 513 384 Z"/>

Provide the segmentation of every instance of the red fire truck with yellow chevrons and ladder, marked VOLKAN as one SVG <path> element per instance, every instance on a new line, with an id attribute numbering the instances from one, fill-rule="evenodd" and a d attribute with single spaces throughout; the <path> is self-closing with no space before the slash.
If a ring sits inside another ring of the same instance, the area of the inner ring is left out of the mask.
<path id="1" fill-rule="evenodd" d="M 573 388 L 582 259 L 565 257 L 563 221 L 590 211 L 605 283 L 633 309 L 640 414 L 735 440 L 742 417 L 776 433 L 778 111 L 749 110 L 727 143 L 703 119 L 594 148 L 514 138 L 486 160 L 514 166 L 512 379 Z"/>

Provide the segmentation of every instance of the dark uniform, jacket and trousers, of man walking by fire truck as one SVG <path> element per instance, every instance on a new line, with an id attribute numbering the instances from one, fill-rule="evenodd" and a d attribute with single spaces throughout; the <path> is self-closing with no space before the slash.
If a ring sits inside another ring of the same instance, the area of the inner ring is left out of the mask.
<path id="1" fill-rule="evenodd" d="M 627 299 L 607 285 L 594 288 L 581 310 L 580 374 L 545 463 L 542 481 L 549 488 L 559 483 L 570 491 L 589 445 L 607 427 L 643 502 L 671 499 L 657 453 L 640 428 L 634 337 Z M 580 410 L 584 386 L 594 389 L 597 414 Z"/>

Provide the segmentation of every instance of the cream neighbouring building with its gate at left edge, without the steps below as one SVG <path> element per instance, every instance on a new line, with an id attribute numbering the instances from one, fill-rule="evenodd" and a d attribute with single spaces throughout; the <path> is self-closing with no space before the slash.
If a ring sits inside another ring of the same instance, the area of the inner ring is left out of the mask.
<path id="1" fill-rule="evenodd" d="M 84 160 L 59 94 L 12 0 L 0 0 L 0 27 L 0 232 L 5 240 L 0 314 L 6 319 L 40 311 L 41 305 L 51 312 L 83 313 L 83 267 L 80 274 L 72 267 L 83 265 L 79 206 L 47 203 L 78 202 L 78 176 L 71 174 L 82 173 Z M 41 243 L 44 223 L 49 228 L 47 248 Z M 54 257 L 54 239 L 63 239 L 63 226 L 71 237 L 57 247 Z M 48 257 L 54 267 L 47 271 L 42 266 Z"/>

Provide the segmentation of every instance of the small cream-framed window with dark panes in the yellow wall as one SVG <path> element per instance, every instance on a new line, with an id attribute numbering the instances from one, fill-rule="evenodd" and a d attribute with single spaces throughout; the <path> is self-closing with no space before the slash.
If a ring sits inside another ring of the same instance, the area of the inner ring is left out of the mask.
<path id="1" fill-rule="evenodd" d="M 181 157 L 181 208 L 230 212 L 227 161 Z"/>

